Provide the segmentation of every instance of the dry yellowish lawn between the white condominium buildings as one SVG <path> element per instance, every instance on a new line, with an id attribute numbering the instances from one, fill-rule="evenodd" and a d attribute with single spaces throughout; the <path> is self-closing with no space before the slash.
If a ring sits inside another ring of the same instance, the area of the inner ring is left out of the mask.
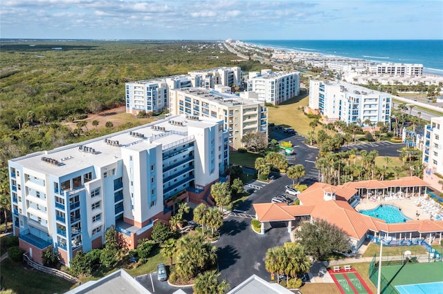
<path id="1" fill-rule="evenodd" d="M 309 117 L 303 114 L 303 108 L 308 104 L 309 95 L 300 95 L 284 101 L 278 107 L 269 107 L 268 121 L 270 123 L 273 122 L 275 125 L 282 125 L 285 128 L 291 127 L 300 135 L 308 137 L 307 133 L 312 129 L 309 126 L 309 122 L 314 120 L 309 119 Z"/>

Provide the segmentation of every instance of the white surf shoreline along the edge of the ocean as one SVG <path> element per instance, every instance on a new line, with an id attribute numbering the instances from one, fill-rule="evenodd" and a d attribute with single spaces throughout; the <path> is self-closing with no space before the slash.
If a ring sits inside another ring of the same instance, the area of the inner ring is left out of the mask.
<path id="1" fill-rule="evenodd" d="M 319 52 L 317 49 L 302 48 L 304 50 L 298 50 L 298 49 L 291 49 L 291 48 L 282 47 L 282 46 L 273 46 L 273 45 L 266 45 L 266 44 L 250 43 L 248 41 L 242 41 L 242 40 L 238 40 L 238 41 L 244 43 L 247 46 L 255 46 L 255 47 L 261 48 L 261 49 L 271 49 L 273 51 L 278 51 L 278 52 L 297 52 L 297 53 L 301 53 L 301 54 L 312 54 L 312 55 L 316 55 L 318 57 L 343 58 L 343 59 L 354 60 L 354 61 L 374 62 L 376 64 L 381 64 L 381 63 L 405 63 L 405 62 L 400 62 L 400 61 L 389 61 L 388 60 L 389 57 L 374 57 L 374 58 L 383 59 L 383 60 L 374 60 L 374 59 L 366 59 L 366 58 L 364 58 L 364 57 L 372 57 L 370 55 L 363 55 L 363 58 L 359 58 L 359 57 L 346 57 L 346 56 L 343 56 L 343 55 L 325 54 L 325 53 Z M 312 40 L 312 41 L 315 41 L 315 40 Z M 424 67 L 423 63 L 406 63 L 406 64 L 422 64 L 423 65 L 423 74 L 424 75 L 435 75 L 437 77 L 443 77 L 443 68 L 428 68 L 428 67 Z"/>

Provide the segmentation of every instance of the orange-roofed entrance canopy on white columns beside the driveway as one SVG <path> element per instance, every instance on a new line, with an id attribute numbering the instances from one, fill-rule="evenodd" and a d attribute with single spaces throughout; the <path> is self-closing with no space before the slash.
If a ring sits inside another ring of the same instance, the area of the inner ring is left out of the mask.
<path id="1" fill-rule="evenodd" d="M 292 231 L 292 221 L 296 216 L 311 215 L 314 206 L 299 206 L 284 203 L 253 204 L 255 218 L 262 224 L 260 234 L 264 235 L 264 222 L 288 222 L 288 232 Z"/>

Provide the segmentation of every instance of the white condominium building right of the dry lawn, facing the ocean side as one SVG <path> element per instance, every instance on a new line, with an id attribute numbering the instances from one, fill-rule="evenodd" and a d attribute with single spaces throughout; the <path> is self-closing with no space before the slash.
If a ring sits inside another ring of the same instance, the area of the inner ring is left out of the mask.
<path id="1" fill-rule="evenodd" d="M 392 108 L 392 95 L 339 81 L 311 79 L 309 82 L 309 108 L 332 120 L 347 124 L 388 122 Z"/>

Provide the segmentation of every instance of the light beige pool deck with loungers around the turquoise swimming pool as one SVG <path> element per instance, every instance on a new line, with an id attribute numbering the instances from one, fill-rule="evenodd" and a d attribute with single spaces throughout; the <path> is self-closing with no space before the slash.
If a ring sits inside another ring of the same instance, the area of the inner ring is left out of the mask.
<path id="1" fill-rule="evenodd" d="M 390 204 L 401 208 L 401 212 L 409 217 L 410 219 L 431 219 L 431 213 L 424 213 L 422 209 L 417 207 L 413 202 L 415 202 L 419 197 L 410 197 L 410 199 L 396 199 L 390 201 L 372 201 L 370 199 L 362 199 L 357 206 L 355 206 L 355 210 L 370 210 L 377 208 L 380 204 Z M 415 213 L 419 213 L 419 217 L 415 215 Z"/>

